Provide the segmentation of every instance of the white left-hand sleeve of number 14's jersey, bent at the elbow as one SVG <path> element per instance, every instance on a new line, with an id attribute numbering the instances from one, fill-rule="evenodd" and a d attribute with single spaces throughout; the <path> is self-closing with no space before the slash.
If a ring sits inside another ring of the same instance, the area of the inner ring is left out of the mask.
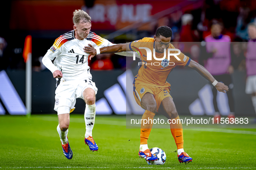
<path id="1" fill-rule="evenodd" d="M 42 63 L 45 65 L 45 67 L 47 69 L 49 69 L 52 73 L 55 72 L 56 70 L 58 70 L 58 67 L 55 66 L 53 63 L 52 63 L 52 60 L 55 58 L 55 57 L 58 57 L 58 53 L 59 53 L 59 50 L 55 49 L 54 46 L 52 46 L 48 51 L 47 53 L 45 54 L 45 56 L 42 58 Z"/>

